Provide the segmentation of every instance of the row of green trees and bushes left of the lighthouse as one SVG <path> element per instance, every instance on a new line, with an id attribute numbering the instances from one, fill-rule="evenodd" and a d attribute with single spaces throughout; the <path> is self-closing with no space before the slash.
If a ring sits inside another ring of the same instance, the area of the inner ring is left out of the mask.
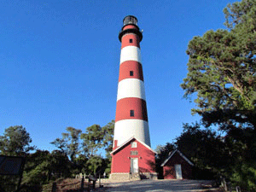
<path id="1" fill-rule="evenodd" d="M 32 154 L 29 152 L 35 147 L 30 146 L 32 139 L 26 128 L 21 125 L 11 126 L 0 136 L 0 154 L 25 155 L 21 191 L 41 191 L 42 186 L 47 183 L 74 177 L 80 172 L 102 174 L 107 169 L 108 173 L 111 166 L 109 153 L 113 145 L 113 125 L 114 121 L 104 127 L 92 125 L 83 134 L 79 129 L 67 127 L 67 132 L 52 142 L 60 150 L 49 153 L 38 149 Z M 81 147 L 83 150 L 80 150 Z M 99 149 L 105 149 L 108 153 L 106 160 L 96 154 Z M 18 177 L 0 177 L 0 185 L 7 191 L 15 191 L 17 183 Z"/>

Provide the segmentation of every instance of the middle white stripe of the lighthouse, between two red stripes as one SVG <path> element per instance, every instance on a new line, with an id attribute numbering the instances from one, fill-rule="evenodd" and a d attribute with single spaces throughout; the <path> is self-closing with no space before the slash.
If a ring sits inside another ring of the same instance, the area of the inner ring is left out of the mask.
<path id="1" fill-rule="evenodd" d="M 137 97 L 146 101 L 144 82 L 140 79 L 123 79 L 119 82 L 117 100 Z"/>

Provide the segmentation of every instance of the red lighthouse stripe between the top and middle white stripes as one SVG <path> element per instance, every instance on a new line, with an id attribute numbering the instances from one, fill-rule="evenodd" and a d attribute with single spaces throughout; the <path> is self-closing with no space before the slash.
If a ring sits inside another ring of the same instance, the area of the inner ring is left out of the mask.
<path id="1" fill-rule="evenodd" d="M 133 76 L 130 76 L 133 72 Z M 125 61 L 119 67 L 119 82 L 123 79 L 141 79 L 143 81 L 143 66 L 138 61 Z"/>

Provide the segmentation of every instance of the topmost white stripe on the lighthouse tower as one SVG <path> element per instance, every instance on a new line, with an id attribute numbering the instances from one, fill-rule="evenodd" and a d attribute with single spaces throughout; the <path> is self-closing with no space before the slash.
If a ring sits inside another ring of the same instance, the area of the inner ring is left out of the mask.
<path id="1" fill-rule="evenodd" d="M 136 46 L 126 46 L 121 49 L 120 64 L 125 61 L 138 61 L 142 63 L 141 49 Z"/>

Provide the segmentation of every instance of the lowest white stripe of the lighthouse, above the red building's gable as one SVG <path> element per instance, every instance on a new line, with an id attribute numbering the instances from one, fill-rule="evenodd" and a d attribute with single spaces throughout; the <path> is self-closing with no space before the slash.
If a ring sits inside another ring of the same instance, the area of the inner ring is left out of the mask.
<path id="1" fill-rule="evenodd" d="M 124 119 L 114 124 L 113 140 L 118 140 L 118 146 L 131 137 L 136 137 L 150 147 L 148 121 L 142 119 Z"/>

